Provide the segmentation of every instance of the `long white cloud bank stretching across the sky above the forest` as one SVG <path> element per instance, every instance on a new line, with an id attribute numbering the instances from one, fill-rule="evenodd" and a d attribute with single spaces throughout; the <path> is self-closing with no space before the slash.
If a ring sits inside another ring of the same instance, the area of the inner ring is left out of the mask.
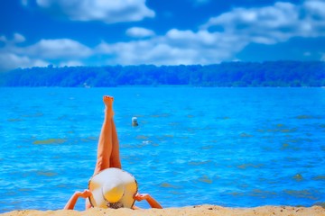
<path id="1" fill-rule="evenodd" d="M 49 2 L 42 1 L 44 5 Z M 16 34 L 12 40 L 0 36 L 5 43 L 0 47 L 0 66 L 4 70 L 48 62 L 59 62 L 60 66 L 213 64 L 236 60 L 237 53 L 250 43 L 274 44 L 293 37 L 325 36 L 324 13 L 325 5 L 316 0 L 300 5 L 278 2 L 265 7 L 234 8 L 212 17 L 199 31 L 171 29 L 157 35 L 148 29 L 131 28 L 126 34 L 136 37 L 135 40 L 102 41 L 95 48 L 70 39 L 18 46 L 18 42 L 25 40 L 23 35 Z"/>

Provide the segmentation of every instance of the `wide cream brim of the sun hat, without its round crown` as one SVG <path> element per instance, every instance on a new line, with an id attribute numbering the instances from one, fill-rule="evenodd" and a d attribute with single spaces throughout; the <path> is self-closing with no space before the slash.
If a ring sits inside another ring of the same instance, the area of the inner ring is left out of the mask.
<path id="1" fill-rule="evenodd" d="M 116 202 L 112 203 L 114 205 L 111 208 L 124 207 L 132 208 L 135 204 L 135 194 L 138 190 L 138 185 L 135 180 L 135 176 L 129 174 L 128 172 L 119 168 L 107 168 L 99 172 L 97 175 L 93 175 L 88 182 L 88 189 L 91 191 L 92 195 L 89 197 L 89 202 L 93 207 L 108 208 L 102 187 L 111 178 L 119 179 L 120 184 L 124 184 L 125 192 L 122 198 Z"/>

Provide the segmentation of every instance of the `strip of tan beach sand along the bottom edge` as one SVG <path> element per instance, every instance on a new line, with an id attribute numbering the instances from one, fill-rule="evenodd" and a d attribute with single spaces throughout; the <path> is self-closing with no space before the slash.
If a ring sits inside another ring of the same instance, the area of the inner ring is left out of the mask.
<path id="1" fill-rule="evenodd" d="M 263 206 L 255 208 L 225 208 L 216 205 L 199 205 L 199 206 L 189 206 L 181 208 L 167 208 L 163 210 L 159 209 L 147 209 L 147 210 L 130 210 L 130 209 L 99 209 L 93 208 L 88 211 L 67 211 L 67 210 L 58 210 L 58 211 L 34 211 L 34 210 L 24 210 L 24 211 L 10 211 L 1 216 L 48 216 L 48 215 L 67 215 L 67 216 L 160 216 L 160 215 L 187 215 L 187 216 L 196 216 L 196 215 L 207 215 L 207 216 L 230 216 L 230 215 L 241 215 L 241 216 L 250 216 L 250 215 L 302 215 L 302 216 L 324 216 L 325 209 L 320 206 L 313 206 L 309 208 L 304 207 L 291 207 L 291 206 Z"/>

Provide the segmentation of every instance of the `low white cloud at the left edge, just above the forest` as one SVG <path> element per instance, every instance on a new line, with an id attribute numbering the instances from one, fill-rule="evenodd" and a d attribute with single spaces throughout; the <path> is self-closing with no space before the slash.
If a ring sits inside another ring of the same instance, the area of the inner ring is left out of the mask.
<path id="1" fill-rule="evenodd" d="M 5 46 L 0 48 L 0 71 L 16 67 L 44 67 L 52 62 L 67 66 L 83 65 L 82 60 L 93 54 L 92 49 L 70 39 L 40 40 L 30 46 L 18 46 L 25 38 L 15 33 L 12 40 L 0 36 Z"/>

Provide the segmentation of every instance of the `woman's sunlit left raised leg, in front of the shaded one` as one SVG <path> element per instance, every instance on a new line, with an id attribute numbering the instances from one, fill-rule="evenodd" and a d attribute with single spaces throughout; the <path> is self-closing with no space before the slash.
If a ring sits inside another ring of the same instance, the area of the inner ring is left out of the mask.
<path id="1" fill-rule="evenodd" d="M 113 97 L 110 96 L 103 97 L 106 106 L 105 118 L 98 140 L 98 157 L 94 175 L 98 174 L 98 172 L 103 169 L 111 167 L 111 157 L 114 156 L 112 155 L 114 145 L 113 140 L 116 136 L 113 136 L 113 100 Z"/>

